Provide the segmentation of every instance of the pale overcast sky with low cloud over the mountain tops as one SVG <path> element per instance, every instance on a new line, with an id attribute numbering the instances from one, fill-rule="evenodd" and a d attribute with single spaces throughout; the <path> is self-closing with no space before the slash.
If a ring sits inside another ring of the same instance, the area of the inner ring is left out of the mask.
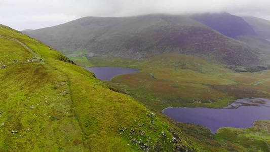
<path id="1" fill-rule="evenodd" d="M 270 20 L 269 0 L 0 0 L 0 24 L 38 29 L 85 16 L 228 12 Z"/>

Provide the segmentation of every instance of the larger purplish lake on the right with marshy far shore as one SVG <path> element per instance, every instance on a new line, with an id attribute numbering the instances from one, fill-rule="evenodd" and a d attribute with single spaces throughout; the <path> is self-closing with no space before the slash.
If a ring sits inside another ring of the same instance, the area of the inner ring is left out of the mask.
<path id="1" fill-rule="evenodd" d="M 256 120 L 270 120 L 270 100 L 238 99 L 226 108 L 168 107 L 163 113 L 178 121 L 198 124 L 216 133 L 218 128 L 248 128 Z"/>

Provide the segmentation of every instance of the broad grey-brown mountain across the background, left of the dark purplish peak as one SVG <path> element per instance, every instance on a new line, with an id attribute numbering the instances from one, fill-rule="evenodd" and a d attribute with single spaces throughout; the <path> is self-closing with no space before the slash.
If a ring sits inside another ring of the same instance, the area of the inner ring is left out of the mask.
<path id="1" fill-rule="evenodd" d="M 246 25 L 244 23 L 240 22 L 238 27 Z M 260 50 L 229 38 L 187 15 L 85 17 L 22 32 L 71 57 L 143 59 L 176 52 L 209 58 L 222 64 L 256 66 L 263 56 Z M 253 34 L 253 30 L 247 28 L 242 33 Z"/>

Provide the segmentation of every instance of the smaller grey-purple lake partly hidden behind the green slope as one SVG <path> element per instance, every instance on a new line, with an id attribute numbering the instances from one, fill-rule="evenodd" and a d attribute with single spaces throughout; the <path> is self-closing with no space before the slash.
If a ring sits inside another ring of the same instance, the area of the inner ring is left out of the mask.
<path id="1" fill-rule="evenodd" d="M 116 75 L 128 74 L 128 73 L 137 73 L 140 70 L 136 68 L 123 68 L 123 67 L 84 67 L 85 69 L 95 73 L 95 76 L 99 80 L 111 80 Z"/>

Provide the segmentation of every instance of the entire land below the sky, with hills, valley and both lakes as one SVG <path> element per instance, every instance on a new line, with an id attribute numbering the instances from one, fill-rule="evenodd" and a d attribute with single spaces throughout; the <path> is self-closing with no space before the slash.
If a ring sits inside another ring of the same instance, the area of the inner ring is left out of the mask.
<path id="1" fill-rule="evenodd" d="M 269 22 L 206 13 L 0 24 L 0 151 L 269 151 Z"/>

